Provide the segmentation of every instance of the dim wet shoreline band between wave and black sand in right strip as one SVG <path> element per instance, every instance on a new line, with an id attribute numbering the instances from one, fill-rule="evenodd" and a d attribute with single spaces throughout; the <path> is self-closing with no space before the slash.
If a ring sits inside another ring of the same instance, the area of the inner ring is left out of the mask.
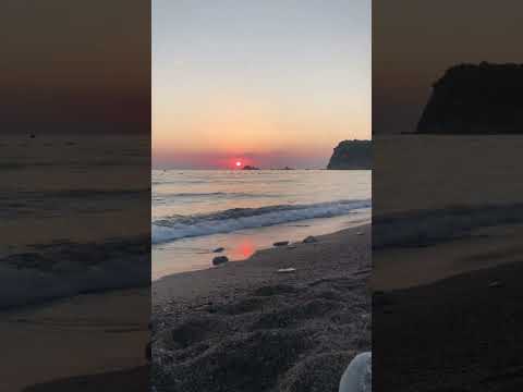
<path id="1" fill-rule="evenodd" d="M 522 235 L 522 223 L 499 224 L 419 246 L 373 249 L 370 284 L 380 292 L 409 290 L 518 262 Z"/>

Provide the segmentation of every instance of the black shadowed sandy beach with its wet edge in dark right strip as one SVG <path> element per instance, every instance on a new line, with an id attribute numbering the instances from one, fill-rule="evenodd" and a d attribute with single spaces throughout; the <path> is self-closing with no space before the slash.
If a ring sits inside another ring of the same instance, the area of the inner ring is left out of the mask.
<path id="1" fill-rule="evenodd" d="M 510 243 L 522 228 L 506 231 Z M 523 389 L 521 248 L 486 247 L 488 240 L 471 238 L 416 250 L 401 262 L 388 258 L 405 277 L 374 282 L 375 391 Z"/>

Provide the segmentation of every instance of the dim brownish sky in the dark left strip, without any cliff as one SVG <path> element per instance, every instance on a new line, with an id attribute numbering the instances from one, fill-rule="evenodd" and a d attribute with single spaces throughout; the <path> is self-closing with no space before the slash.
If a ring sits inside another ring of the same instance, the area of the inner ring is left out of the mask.
<path id="1" fill-rule="evenodd" d="M 2 132 L 150 133 L 150 7 L 3 0 Z"/>

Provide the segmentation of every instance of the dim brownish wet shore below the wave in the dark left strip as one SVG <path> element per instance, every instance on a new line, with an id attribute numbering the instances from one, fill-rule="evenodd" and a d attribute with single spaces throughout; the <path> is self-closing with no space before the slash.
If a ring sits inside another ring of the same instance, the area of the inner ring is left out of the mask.
<path id="1" fill-rule="evenodd" d="M 2 311 L 0 390 L 145 391 L 149 293 L 85 294 Z"/>

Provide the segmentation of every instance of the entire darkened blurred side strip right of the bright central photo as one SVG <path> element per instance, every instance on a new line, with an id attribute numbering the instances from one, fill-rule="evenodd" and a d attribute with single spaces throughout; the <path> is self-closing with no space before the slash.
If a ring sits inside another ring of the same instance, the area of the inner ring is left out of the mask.
<path id="1" fill-rule="evenodd" d="M 519 1 L 373 1 L 373 390 L 523 390 Z"/>

